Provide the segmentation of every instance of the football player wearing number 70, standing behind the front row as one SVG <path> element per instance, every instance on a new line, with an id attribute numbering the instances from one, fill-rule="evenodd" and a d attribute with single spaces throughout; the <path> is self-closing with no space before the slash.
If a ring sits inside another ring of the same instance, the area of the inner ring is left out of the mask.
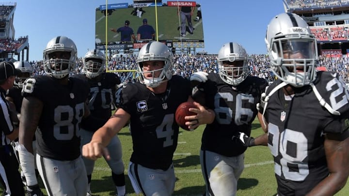
<path id="1" fill-rule="evenodd" d="M 120 84 L 120 78 L 113 73 L 105 72 L 106 59 L 98 49 L 88 51 L 83 60 L 82 72 L 85 79 L 90 84 L 90 94 L 88 96 L 87 105 L 91 111 L 91 115 L 103 119 L 105 122 L 111 117 L 111 104 L 114 101 L 115 90 Z M 92 135 L 96 129 L 89 126 L 81 127 L 81 147 L 91 141 Z M 122 161 L 122 149 L 119 137 L 115 135 L 107 146 L 110 152 L 110 159 L 106 160 L 111 168 L 111 178 L 116 186 L 118 196 L 125 195 L 125 166 Z M 95 161 L 82 157 L 88 179 L 87 196 L 91 196 L 90 185 L 92 172 Z"/>

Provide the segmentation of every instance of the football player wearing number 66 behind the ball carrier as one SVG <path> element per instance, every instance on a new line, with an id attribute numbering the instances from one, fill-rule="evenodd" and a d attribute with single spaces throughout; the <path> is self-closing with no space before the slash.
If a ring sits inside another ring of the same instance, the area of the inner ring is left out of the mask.
<path id="1" fill-rule="evenodd" d="M 206 125 L 200 151 L 206 196 L 235 196 L 244 169 L 247 148 L 236 136 L 240 132 L 250 136 L 258 113 L 256 104 L 268 85 L 263 78 L 249 76 L 247 58 L 242 45 L 226 43 L 218 53 L 218 73 L 199 72 L 190 77 L 192 82 L 200 82 L 194 100 L 216 114 Z M 192 120 L 194 116 L 186 118 Z"/>

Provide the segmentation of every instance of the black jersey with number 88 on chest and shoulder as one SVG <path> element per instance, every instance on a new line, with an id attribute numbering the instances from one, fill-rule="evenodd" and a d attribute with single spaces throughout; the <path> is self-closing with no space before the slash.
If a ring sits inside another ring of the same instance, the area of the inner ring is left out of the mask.
<path id="1" fill-rule="evenodd" d="M 69 85 L 47 75 L 26 80 L 24 97 L 34 96 L 43 102 L 36 133 L 37 153 L 56 160 L 74 160 L 80 155 L 80 122 L 88 96 L 88 84 L 69 78 Z"/>

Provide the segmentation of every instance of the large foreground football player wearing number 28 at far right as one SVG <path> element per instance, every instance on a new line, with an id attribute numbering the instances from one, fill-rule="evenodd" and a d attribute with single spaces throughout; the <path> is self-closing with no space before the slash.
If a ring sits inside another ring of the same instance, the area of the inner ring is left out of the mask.
<path id="1" fill-rule="evenodd" d="M 337 73 L 316 72 L 317 40 L 300 16 L 272 18 L 266 44 L 279 78 L 259 109 L 268 133 L 240 138 L 269 146 L 279 196 L 333 196 L 349 175 L 349 91 Z"/>

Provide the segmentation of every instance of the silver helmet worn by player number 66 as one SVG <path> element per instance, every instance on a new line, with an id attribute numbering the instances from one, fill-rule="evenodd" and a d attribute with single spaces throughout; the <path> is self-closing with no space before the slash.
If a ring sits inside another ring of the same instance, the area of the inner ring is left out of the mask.
<path id="1" fill-rule="evenodd" d="M 218 52 L 218 73 L 222 80 L 234 86 L 244 81 L 249 74 L 247 58 L 248 55 L 242 45 L 234 42 L 224 44 Z M 235 65 L 229 62 L 235 62 Z M 224 63 L 231 65 L 224 66 Z"/>

